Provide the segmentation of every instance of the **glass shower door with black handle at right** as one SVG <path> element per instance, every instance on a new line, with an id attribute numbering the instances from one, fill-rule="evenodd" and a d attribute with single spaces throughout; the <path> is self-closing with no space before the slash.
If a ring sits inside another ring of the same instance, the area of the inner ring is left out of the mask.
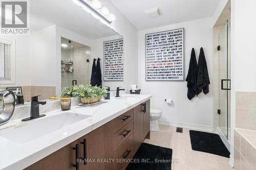
<path id="1" fill-rule="evenodd" d="M 230 53 L 228 20 L 219 33 L 219 127 L 229 139 L 230 136 Z"/>

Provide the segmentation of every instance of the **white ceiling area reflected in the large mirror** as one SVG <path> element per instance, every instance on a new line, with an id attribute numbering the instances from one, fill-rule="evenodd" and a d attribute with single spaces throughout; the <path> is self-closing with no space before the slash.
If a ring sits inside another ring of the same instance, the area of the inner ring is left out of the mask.
<path id="1" fill-rule="evenodd" d="M 89 39 L 117 35 L 114 30 L 103 26 L 100 21 L 78 7 L 72 0 L 31 0 L 31 31 L 51 25 L 58 25 Z"/>

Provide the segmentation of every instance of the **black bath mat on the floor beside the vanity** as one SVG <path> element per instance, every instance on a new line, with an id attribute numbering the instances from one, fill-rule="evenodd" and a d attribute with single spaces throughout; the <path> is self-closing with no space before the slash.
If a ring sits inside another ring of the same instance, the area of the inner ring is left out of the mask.
<path id="1" fill-rule="evenodd" d="M 134 160 L 139 160 L 139 162 L 130 162 L 126 170 L 169 170 L 172 169 L 172 155 L 173 150 L 170 148 L 142 143 L 133 157 Z M 142 160 L 147 159 L 148 162 L 142 162 Z M 166 162 L 159 162 L 160 160 L 166 160 Z"/>

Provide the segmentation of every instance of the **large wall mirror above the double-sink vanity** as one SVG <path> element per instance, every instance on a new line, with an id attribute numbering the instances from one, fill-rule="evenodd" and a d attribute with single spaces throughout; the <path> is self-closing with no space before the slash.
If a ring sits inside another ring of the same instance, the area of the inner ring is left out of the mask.
<path id="1" fill-rule="evenodd" d="M 124 77 L 104 79 L 104 61 L 110 64 L 105 70 L 110 68 L 109 72 L 115 72 L 114 77 L 122 75 L 121 57 L 115 49 L 120 49 L 123 44 L 113 42 L 104 47 L 104 42 L 122 40 L 120 34 L 71 0 L 33 0 L 29 3 L 30 34 L 0 37 L 3 40 L 0 47 L 5 46 L 4 42 L 11 42 L 10 49 L 16 54 L 12 68 L 6 70 L 12 71 L 13 79 L 0 82 L 0 89 L 12 88 L 22 93 L 25 101 L 34 95 L 40 95 L 40 100 L 47 100 L 50 96 L 59 96 L 62 87 L 91 84 L 94 59 L 96 62 L 99 59 L 102 87 L 109 86 L 115 90 L 123 86 Z M 104 48 L 108 50 L 104 51 Z M 0 54 L 4 53 L 0 51 Z M 113 60 L 109 54 L 119 55 L 119 58 Z M 108 60 L 104 60 L 104 56 Z M 112 68 L 118 69 L 113 71 Z M 3 74 L 2 71 L 1 78 L 4 78 Z"/>

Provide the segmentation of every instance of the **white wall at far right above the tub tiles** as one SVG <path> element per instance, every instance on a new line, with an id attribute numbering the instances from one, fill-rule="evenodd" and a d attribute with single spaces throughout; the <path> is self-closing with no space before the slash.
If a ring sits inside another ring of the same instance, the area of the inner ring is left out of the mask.
<path id="1" fill-rule="evenodd" d="M 237 91 L 256 91 L 256 1 L 233 1 L 233 50 Z"/>

